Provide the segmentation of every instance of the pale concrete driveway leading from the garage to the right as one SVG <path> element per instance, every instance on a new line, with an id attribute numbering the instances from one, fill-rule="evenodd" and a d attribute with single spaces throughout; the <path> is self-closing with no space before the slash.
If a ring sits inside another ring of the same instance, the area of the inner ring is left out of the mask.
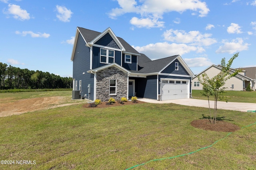
<path id="1" fill-rule="evenodd" d="M 180 104 L 185 106 L 196 106 L 196 107 L 206 107 L 208 108 L 208 100 L 198 100 L 198 99 L 178 99 L 178 100 L 164 100 L 164 101 L 157 101 L 152 99 L 141 98 L 138 99 L 143 102 L 147 103 L 156 103 L 156 104 Z M 214 108 L 214 101 L 210 101 L 210 107 Z M 225 110 L 237 110 L 237 111 L 248 111 L 248 110 L 256 110 L 255 103 L 238 103 L 238 102 L 219 102 L 217 103 L 218 109 L 225 109 Z"/>

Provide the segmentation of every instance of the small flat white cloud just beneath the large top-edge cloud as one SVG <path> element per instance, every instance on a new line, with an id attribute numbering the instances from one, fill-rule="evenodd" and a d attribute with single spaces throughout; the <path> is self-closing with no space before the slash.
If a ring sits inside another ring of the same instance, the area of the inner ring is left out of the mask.
<path id="1" fill-rule="evenodd" d="M 147 27 L 147 28 L 152 28 L 152 27 L 163 27 L 164 26 L 164 22 L 163 21 L 158 21 L 157 19 L 150 19 L 150 18 L 136 18 L 133 17 L 130 20 L 130 23 L 132 25 L 135 25 L 136 27 Z"/>

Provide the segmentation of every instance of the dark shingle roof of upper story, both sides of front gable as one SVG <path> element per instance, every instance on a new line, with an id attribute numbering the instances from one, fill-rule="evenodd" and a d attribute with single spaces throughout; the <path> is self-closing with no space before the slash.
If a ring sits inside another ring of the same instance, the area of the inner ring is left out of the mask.
<path id="1" fill-rule="evenodd" d="M 84 37 L 86 43 L 91 42 L 94 40 L 94 38 L 98 37 L 101 33 L 97 31 L 92 31 L 90 29 L 85 29 L 82 27 L 78 27 L 79 31 L 81 32 L 82 36 Z M 129 45 L 124 39 L 117 37 L 120 43 L 123 45 L 125 48 L 125 52 L 128 53 L 134 53 L 134 54 L 140 54 L 136 49 L 134 49 L 131 45 Z"/>

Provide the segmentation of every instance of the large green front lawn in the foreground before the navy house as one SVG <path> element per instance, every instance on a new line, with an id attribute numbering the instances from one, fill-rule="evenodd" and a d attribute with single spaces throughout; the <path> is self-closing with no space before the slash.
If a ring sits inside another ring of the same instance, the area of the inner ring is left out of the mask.
<path id="1" fill-rule="evenodd" d="M 203 113 L 208 114 L 208 109 L 175 104 L 124 104 L 102 109 L 78 104 L 0 117 L 0 160 L 36 161 L 32 165 L 0 164 L 0 169 L 125 170 L 186 154 L 228 134 L 192 127 L 190 122 Z M 239 127 L 256 122 L 255 113 L 218 110 L 218 115 Z M 194 154 L 134 169 L 255 170 L 255 127 L 233 132 Z"/>

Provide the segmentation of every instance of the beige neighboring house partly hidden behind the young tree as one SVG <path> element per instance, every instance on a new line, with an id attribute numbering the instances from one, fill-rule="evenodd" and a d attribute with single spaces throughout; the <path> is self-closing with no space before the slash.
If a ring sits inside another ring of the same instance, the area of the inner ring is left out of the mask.
<path id="1" fill-rule="evenodd" d="M 201 76 L 205 72 L 209 78 L 213 78 L 221 70 L 222 70 L 222 67 L 220 64 L 217 66 L 212 64 L 211 66 L 209 66 L 208 68 L 206 68 L 205 70 L 197 74 L 195 77 L 192 78 L 192 90 L 202 90 L 202 84 L 200 84 L 200 82 L 198 81 L 198 76 Z M 231 68 L 230 70 L 231 72 L 233 72 L 235 69 Z M 226 88 L 226 90 L 242 91 L 246 89 L 249 83 L 251 83 L 251 89 L 255 90 L 255 79 L 245 76 L 245 70 L 243 70 L 242 72 L 238 73 L 236 76 L 228 79 L 224 87 Z"/>

